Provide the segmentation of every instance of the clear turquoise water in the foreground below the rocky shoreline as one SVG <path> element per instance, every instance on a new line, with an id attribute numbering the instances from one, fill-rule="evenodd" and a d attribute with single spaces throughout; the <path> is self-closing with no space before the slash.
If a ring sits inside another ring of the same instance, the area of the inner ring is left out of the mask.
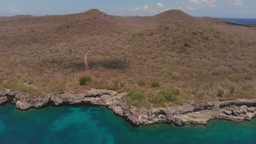
<path id="1" fill-rule="evenodd" d="M 256 143 L 256 121 L 132 127 L 101 106 L 0 107 L 0 143 Z"/>

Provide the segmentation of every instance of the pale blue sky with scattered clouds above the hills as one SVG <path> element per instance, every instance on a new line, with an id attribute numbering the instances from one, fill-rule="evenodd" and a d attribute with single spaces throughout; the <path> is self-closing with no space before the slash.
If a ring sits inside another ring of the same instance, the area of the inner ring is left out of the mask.
<path id="1" fill-rule="evenodd" d="M 256 19 L 255 0 L 0 0 L 0 16 L 62 15 L 92 8 L 119 16 L 148 16 L 179 9 L 192 16 Z"/>

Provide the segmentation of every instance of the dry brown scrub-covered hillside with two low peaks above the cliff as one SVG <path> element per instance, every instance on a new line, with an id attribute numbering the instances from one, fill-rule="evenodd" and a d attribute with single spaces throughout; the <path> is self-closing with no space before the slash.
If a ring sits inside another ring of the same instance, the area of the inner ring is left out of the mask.
<path id="1" fill-rule="evenodd" d="M 255 27 L 179 10 L 139 18 L 98 10 L 3 17 L 0 89 L 33 94 L 113 89 L 127 92 L 128 104 L 144 107 L 255 99 L 255 38 Z"/>

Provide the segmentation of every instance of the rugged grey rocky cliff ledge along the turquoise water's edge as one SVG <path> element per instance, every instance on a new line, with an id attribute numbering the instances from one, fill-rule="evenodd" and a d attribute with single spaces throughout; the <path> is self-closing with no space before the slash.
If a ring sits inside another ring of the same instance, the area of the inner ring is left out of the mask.
<path id="1" fill-rule="evenodd" d="M 147 110 L 142 107 L 126 105 L 123 99 L 124 95 L 114 91 L 91 89 L 82 92 L 53 93 L 34 97 L 29 94 L 11 92 L 7 89 L 5 92 L 0 92 L 0 105 L 9 102 L 15 104 L 16 108 L 20 110 L 62 104 L 103 105 L 133 125 L 156 123 L 207 124 L 211 119 L 242 122 L 251 120 L 256 116 L 256 100 L 216 101 L 199 105 L 187 104 Z"/>

